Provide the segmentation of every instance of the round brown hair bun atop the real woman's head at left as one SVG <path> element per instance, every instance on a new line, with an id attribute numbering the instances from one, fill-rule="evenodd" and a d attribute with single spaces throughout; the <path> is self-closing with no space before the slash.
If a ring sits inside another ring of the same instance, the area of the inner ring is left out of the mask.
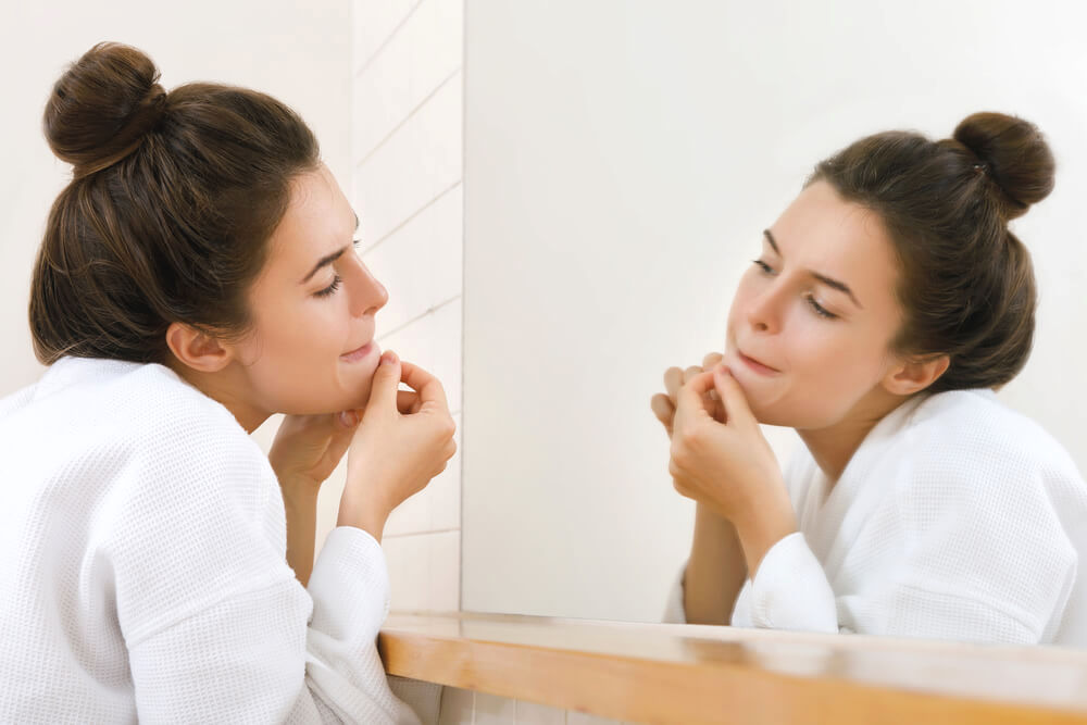
<path id="1" fill-rule="evenodd" d="M 166 91 L 143 52 L 100 42 L 53 85 L 43 127 L 49 147 L 84 176 L 132 153 L 162 117 Z"/>

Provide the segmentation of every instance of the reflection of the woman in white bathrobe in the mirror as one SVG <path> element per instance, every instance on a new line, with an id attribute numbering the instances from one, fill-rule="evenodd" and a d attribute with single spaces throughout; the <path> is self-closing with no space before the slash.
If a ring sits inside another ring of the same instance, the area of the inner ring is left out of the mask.
<path id="1" fill-rule="evenodd" d="M 1037 129 L 997 113 L 816 166 L 763 235 L 724 354 L 652 400 L 697 501 L 670 620 L 1087 645 L 1087 487 L 992 392 L 1034 333 L 1008 222 L 1052 186 Z M 804 443 L 784 474 L 759 423 Z"/>

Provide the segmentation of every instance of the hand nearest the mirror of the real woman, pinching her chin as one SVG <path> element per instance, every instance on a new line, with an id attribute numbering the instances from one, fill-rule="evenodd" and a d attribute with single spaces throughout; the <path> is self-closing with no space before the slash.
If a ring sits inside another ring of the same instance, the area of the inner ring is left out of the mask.
<path id="1" fill-rule="evenodd" d="M 411 390 L 398 390 L 400 383 Z M 457 452 L 455 428 L 441 383 L 386 351 L 348 450 L 337 525 L 380 541 L 392 510 L 445 471 Z"/>

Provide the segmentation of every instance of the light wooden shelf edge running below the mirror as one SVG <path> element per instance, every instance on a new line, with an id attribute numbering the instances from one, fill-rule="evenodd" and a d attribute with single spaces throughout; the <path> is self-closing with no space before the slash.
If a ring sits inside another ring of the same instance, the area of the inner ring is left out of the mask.
<path id="1" fill-rule="evenodd" d="M 458 626 L 439 632 L 435 622 L 455 622 Z M 474 622 L 486 624 L 488 620 L 477 616 Z M 599 643 L 592 648 L 569 643 L 572 632 L 591 634 L 591 628 L 585 629 L 588 625 L 572 629 L 541 617 L 498 617 L 493 622 L 514 636 L 473 634 L 465 630 L 471 627 L 463 627 L 461 615 L 438 615 L 421 617 L 415 625 L 410 620 L 395 622 L 382 632 L 378 648 L 392 675 L 633 722 L 915 725 L 935 718 L 986 725 L 1087 725 L 1087 712 L 1078 703 L 1061 709 L 1001 701 L 999 693 L 979 698 L 874 686 L 829 672 L 787 674 L 737 660 L 735 652 L 728 651 L 734 642 L 704 640 L 696 648 L 701 652 L 684 661 L 652 652 L 632 654 L 637 647 L 608 652 L 600 651 Z M 553 627 L 553 639 L 563 643 L 534 642 L 534 637 L 516 641 L 518 623 L 533 633 L 545 627 L 546 634 Z M 652 625 L 646 627 L 652 632 Z M 637 628 L 623 632 L 638 637 Z M 1076 665 L 1074 661 L 1069 664 Z M 995 666 L 1007 671 L 1009 663 L 998 659 Z"/>

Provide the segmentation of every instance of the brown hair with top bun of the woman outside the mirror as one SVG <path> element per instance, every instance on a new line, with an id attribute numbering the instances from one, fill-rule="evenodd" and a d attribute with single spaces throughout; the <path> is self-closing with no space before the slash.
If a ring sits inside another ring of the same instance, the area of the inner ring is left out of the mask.
<path id="1" fill-rule="evenodd" d="M 30 288 L 38 360 L 164 362 L 166 328 L 250 324 L 246 292 L 290 180 L 320 163 L 305 123 L 270 96 L 190 83 L 166 92 L 142 52 L 99 43 L 53 86 L 43 129 L 74 165 Z"/>

